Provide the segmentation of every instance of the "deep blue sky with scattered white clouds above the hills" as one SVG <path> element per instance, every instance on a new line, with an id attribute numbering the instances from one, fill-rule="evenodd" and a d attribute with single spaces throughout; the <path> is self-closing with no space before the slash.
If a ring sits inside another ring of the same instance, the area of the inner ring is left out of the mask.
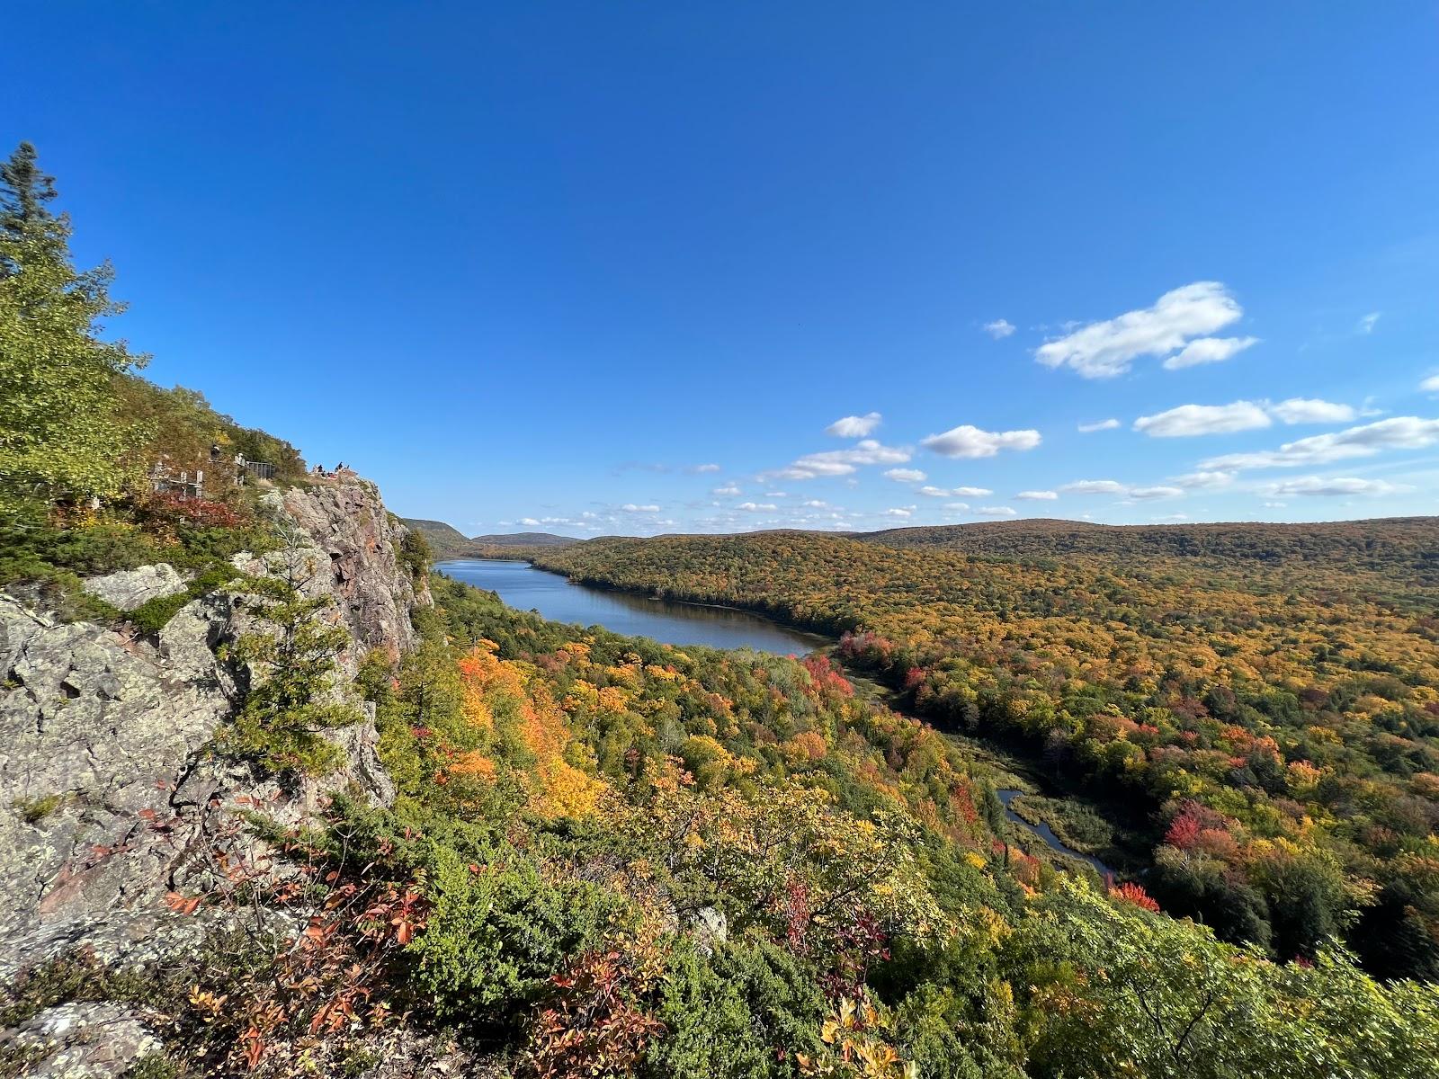
<path id="1" fill-rule="evenodd" d="M 1439 512 L 1439 6 L 1010 7 L 27 4 L 0 137 L 466 532 Z"/>

